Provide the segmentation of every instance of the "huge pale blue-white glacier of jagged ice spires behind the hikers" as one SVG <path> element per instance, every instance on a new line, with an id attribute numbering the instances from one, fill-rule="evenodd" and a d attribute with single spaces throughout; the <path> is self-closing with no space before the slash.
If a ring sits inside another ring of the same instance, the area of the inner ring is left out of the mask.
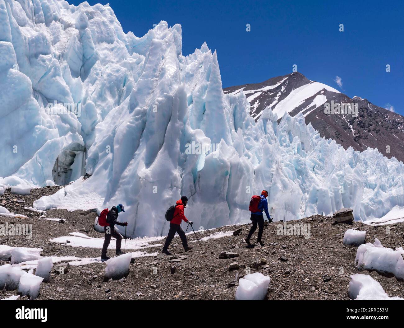
<path id="1" fill-rule="evenodd" d="M 132 237 L 166 233 L 181 195 L 204 229 L 248 222 L 263 189 L 276 221 L 404 206 L 402 162 L 344 150 L 286 107 L 256 123 L 243 91 L 223 93 L 216 51 L 182 54 L 178 24 L 137 37 L 108 5 L 0 0 L 0 90 L 0 193 L 58 184 L 36 209 L 122 203 Z"/>

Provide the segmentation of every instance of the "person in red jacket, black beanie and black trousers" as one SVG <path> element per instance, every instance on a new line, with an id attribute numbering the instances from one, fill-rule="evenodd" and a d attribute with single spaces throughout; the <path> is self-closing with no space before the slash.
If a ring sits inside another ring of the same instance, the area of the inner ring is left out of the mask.
<path id="1" fill-rule="evenodd" d="M 181 238 L 182 245 L 184 246 L 185 252 L 188 252 L 193 247 L 188 246 L 187 237 L 185 236 L 185 232 L 181 229 L 181 222 L 184 220 L 188 224 L 193 224 L 192 221 L 189 221 L 184 215 L 184 208 L 187 207 L 188 198 L 186 196 L 182 196 L 176 202 L 175 211 L 173 215 L 173 220 L 170 221 L 170 230 L 168 231 L 166 243 L 164 244 L 162 253 L 171 255 L 170 251 L 168 250 L 168 246 L 170 245 L 171 241 L 173 240 L 175 233 L 178 233 L 179 237 Z"/>

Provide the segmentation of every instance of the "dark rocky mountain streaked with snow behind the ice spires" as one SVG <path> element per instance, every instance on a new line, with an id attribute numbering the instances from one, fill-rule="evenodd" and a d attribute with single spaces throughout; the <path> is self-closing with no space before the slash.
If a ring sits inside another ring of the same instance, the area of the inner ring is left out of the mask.
<path id="1" fill-rule="evenodd" d="M 267 107 L 277 114 L 278 119 L 286 113 L 291 116 L 303 113 L 306 124 L 311 123 L 322 137 L 336 140 L 345 149 L 377 148 L 386 157 L 404 161 L 404 144 L 397 140 L 404 140 L 404 117 L 375 106 L 366 98 L 349 98 L 299 72 L 224 89 L 226 94 L 241 91 L 250 103 L 250 115 L 255 121 Z M 325 106 L 340 109 L 349 106 L 358 114 L 355 117 L 347 112 L 328 114 Z"/>

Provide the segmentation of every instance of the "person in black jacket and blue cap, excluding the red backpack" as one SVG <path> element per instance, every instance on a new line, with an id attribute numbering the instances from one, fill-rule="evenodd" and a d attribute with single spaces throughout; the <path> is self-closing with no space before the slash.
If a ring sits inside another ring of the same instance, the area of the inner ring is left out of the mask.
<path id="1" fill-rule="evenodd" d="M 121 251 L 121 243 L 122 243 L 122 236 L 118 233 L 118 231 L 115 230 L 115 224 L 118 224 L 118 226 L 127 226 L 128 222 L 118 222 L 118 213 L 120 212 L 125 212 L 124 210 L 124 205 L 119 204 L 117 206 L 112 206 L 112 208 L 109 210 L 107 214 L 107 223 L 109 226 L 104 226 L 104 231 L 105 231 L 105 239 L 104 239 L 104 245 L 102 247 L 101 251 L 101 261 L 104 262 L 106 260 L 109 260 L 109 257 L 107 256 L 107 250 L 109 246 L 109 242 L 111 241 L 111 237 L 114 237 L 116 239 L 116 255 L 121 255 L 124 254 Z"/>

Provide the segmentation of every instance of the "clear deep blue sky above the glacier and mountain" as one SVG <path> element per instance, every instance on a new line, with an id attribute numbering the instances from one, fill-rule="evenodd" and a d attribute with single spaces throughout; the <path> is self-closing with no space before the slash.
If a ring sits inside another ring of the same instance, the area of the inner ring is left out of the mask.
<path id="1" fill-rule="evenodd" d="M 310 80 L 377 106 L 390 104 L 404 115 L 401 0 L 88 2 L 109 2 L 124 31 L 136 36 L 161 20 L 181 24 L 183 55 L 206 41 L 217 50 L 223 87 L 285 75 L 296 64 Z M 344 32 L 339 32 L 339 24 Z M 387 64 L 391 72 L 386 72 Z"/>

